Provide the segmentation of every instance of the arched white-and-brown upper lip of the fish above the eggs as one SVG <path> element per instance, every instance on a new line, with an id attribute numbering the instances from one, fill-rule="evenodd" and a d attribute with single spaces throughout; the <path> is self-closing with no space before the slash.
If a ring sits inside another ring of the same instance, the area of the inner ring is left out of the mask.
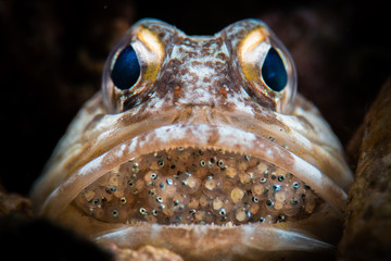
<path id="1" fill-rule="evenodd" d="M 267 138 L 230 126 L 174 124 L 139 134 L 81 166 L 51 192 L 42 204 L 41 214 L 55 219 L 85 187 L 131 158 L 178 147 L 223 149 L 257 157 L 307 183 L 339 212 L 345 208 L 348 197 L 342 188 L 318 169 Z"/>

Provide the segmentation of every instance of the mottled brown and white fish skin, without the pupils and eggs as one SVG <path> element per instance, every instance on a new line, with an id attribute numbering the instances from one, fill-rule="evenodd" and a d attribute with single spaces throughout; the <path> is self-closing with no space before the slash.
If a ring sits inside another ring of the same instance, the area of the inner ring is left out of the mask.
<path id="1" fill-rule="evenodd" d="M 141 74 L 122 90 L 112 70 L 129 45 Z M 272 48 L 287 73 L 278 91 L 262 75 Z M 164 247 L 189 260 L 294 259 L 303 251 L 332 249 L 353 176 L 329 125 L 297 94 L 295 74 L 283 45 L 257 20 L 237 22 L 214 36 L 187 36 L 157 20 L 138 22 L 109 55 L 102 90 L 81 108 L 36 183 L 36 210 L 102 244 Z M 316 195 L 317 207 L 286 222 L 234 225 L 112 222 L 118 211 L 99 220 L 101 203 L 83 212 L 83 200 L 92 200 L 87 192 L 96 195 L 108 173 L 122 173 L 134 159 L 178 148 L 266 162 L 311 186 L 306 197 Z"/>

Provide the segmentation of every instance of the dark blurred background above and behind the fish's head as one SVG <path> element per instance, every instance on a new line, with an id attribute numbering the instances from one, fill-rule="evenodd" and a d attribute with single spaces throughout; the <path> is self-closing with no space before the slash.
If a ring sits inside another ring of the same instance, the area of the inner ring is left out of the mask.
<path id="1" fill-rule="evenodd" d="M 292 53 L 299 91 L 344 146 L 390 75 L 386 1 L 1 0 L 0 184 L 9 191 L 27 195 L 72 117 L 100 88 L 111 48 L 142 17 L 189 35 L 263 20 Z"/>

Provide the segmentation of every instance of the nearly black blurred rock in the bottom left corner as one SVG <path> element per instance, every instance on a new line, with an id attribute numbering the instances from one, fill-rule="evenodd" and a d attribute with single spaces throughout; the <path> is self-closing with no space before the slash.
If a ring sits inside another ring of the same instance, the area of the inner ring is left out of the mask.
<path id="1" fill-rule="evenodd" d="M 112 254 L 90 240 L 47 220 L 11 214 L 0 217 L 2 260 L 112 260 Z"/>

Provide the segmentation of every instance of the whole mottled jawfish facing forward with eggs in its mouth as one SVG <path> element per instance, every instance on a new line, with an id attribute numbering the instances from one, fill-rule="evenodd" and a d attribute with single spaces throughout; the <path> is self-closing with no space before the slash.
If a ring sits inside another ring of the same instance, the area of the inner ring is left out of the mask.
<path id="1" fill-rule="evenodd" d="M 186 260 L 332 251 L 353 182 L 263 22 L 187 36 L 135 24 L 33 188 L 36 210 L 100 244 Z"/>

